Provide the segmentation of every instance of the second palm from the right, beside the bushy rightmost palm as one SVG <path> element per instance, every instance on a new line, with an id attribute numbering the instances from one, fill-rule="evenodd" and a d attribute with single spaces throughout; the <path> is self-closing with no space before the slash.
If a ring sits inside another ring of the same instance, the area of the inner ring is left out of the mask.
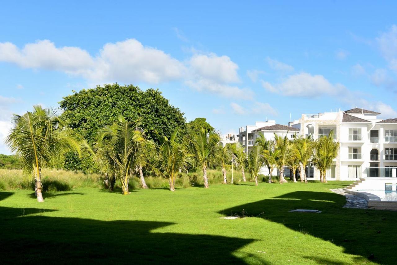
<path id="1" fill-rule="evenodd" d="M 306 138 L 300 136 L 295 139 L 295 152 L 301 163 L 301 167 L 300 167 L 301 182 L 307 183 L 306 166 L 310 162 L 310 159 L 313 155 L 313 151 L 314 151 L 314 142 L 311 139 L 311 136 Z"/>

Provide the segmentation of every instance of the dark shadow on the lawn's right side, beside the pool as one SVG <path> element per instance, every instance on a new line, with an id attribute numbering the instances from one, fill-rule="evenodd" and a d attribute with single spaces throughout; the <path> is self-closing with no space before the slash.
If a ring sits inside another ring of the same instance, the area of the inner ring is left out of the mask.
<path id="1" fill-rule="evenodd" d="M 331 192 L 295 191 L 225 209 L 226 215 L 245 213 L 285 225 L 344 248 L 345 253 L 360 255 L 360 262 L 372 261 L 395 264 L 397 254 L 397 212 L 343 208 L 345 196 Z M 294 209 L 315 209 L 322 213 L 289 213 Z M 309 259 L 309 257 L 307 257 Z M 319 264 L 339 264 L 337 261 L 312 257 Z M 358 261 L 358 259 L 357 259 Z"/>

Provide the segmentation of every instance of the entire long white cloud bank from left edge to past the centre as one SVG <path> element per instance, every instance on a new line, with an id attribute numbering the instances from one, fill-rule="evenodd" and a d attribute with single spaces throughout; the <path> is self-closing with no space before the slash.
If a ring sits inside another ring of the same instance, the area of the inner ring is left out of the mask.
<path id="1" fill-rule="evenodd" d="M 28 43 L 21 49 L 12 43 L 0 43 L 1 61 L 81 76 L 91 84 L 182 81 L 198 91 L 226 97 L 253 96 L 250 89 L 235 85 L 240 82 L 239 67 L 228 56 L 195 53 L 181 62 L 136 39 L 107 43 L 96 56 L 79 47 L 56 47 L 48 40 Z"/>

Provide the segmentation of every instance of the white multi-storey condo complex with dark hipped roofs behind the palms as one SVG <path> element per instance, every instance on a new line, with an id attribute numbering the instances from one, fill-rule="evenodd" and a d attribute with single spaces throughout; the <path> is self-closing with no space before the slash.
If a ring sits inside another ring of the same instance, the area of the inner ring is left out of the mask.
<path id="1" fill-rule="evenodd" d="M 326 172 L 328 180 L 395 177 L 397 118 L 382 120 L 378 118 L 379 114 L 353 108 L 339 112 L 302 114 L 299 120 L 289 122 L 289 126 L 276 124 L 274 120 L 256 122 L 254 126 L 239 128 L 238 140 L 248 152 L 258 133 L 264 133 L 267 139 L 272 139 L 273 133 L 288 133 L 289 138 L 293 138 L 295 133 L 305 137 L 312 135 L 313 139 L 318 139 L 333 131 L 340 149 L 334 164 Z M 306 174 L 309 179 L 320 179 L 320 172 L 310 165 L 306 168 Z"/>

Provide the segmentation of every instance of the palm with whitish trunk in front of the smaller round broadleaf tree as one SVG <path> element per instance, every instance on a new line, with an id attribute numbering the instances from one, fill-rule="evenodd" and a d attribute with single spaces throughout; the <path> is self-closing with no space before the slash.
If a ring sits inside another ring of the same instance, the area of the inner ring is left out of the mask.
<path id="1" fill-rule="evenodd" d="M 216 150 L 219 146 L 220 136 L 215 130 L 207 133 L 205 129 L 195 132 L 191 140 L 192 153 L 195 155 L 196 164 L 203 171 L 204 187 L 208 188 L 207 167 L 216 159 Z"/>

